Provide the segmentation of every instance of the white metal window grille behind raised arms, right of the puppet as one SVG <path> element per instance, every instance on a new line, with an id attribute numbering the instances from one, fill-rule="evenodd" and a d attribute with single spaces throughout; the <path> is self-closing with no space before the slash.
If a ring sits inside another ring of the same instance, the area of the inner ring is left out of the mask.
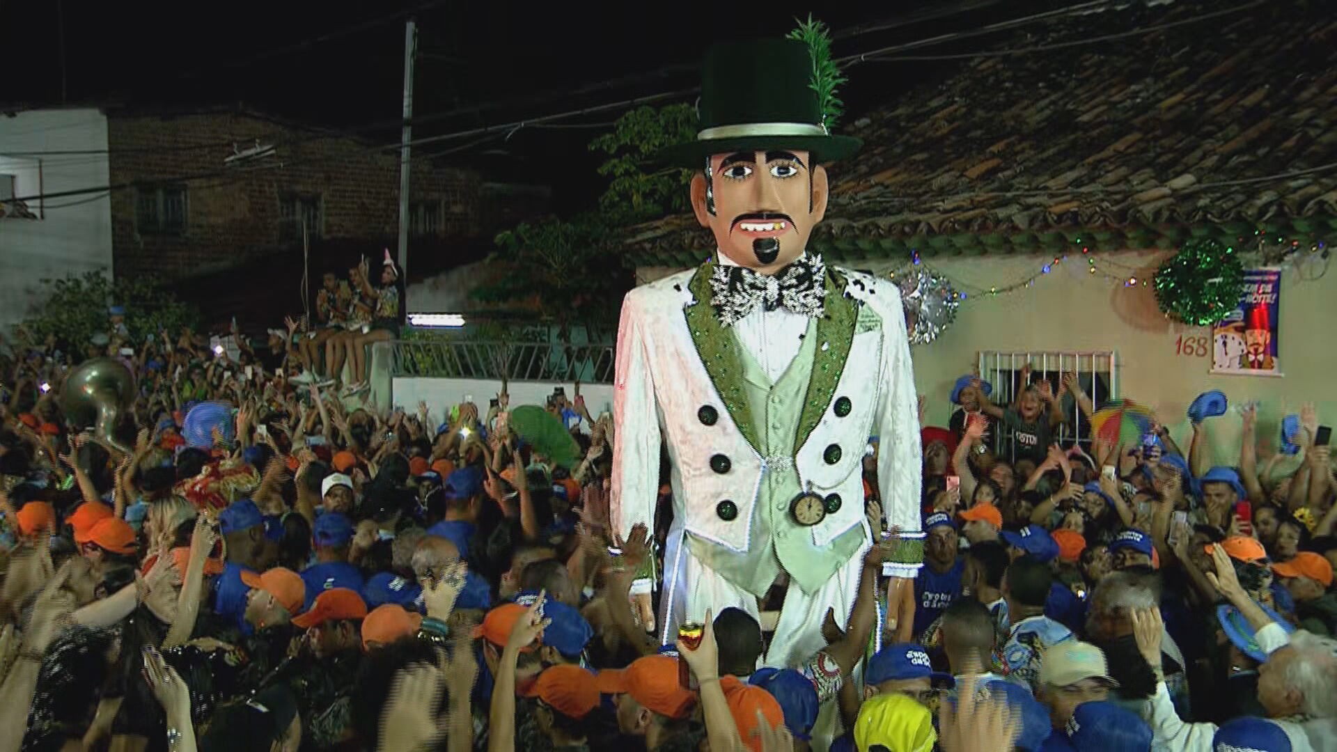
<path id="1" fill-rule="evenodd" d="M 1110 400 L 1119 399 L 1119 363 L 1115 351 L 1103 352 L 1001 352 L 983 351 L 979 353 L 980 379 L 993 387 L 989 400 L 1003 408 L 1011 407 L 1025 384 L 1021 383 L 1021 369 L 1031 365 L 1031 383 L 1046 380 L 1059 396 L 1059 408 L 1067 415 L 1067 421 L 1055 432 L 1060 446 L 1074 442 L 1091 454 L 1091 424 L 1078 401 L 1063 388 L 1062 376 L 1076 373 L 1078 384 L 1091 397 L 1095 409 L 1106 407 Z M 999 456 L 1015 460 L 1012 431 L 999 421 L 993 431 L 993 451 Z"/>

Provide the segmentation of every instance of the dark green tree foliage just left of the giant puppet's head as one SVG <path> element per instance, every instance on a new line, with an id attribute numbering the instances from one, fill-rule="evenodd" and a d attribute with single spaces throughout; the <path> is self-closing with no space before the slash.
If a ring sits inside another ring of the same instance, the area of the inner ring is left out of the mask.
<path id="1" fill-rule="evenodd" d="M 570 218 L 521 222 L 496 237 L 504 253 L 496 261 L 508 273 L 475 290 L 483 302 L 533 306 L 564 332 L 570 324 L 610 326 L 634 277 L 622 252 L 631 225 L 687 209 L 689 170 L 650 167 L 668 145 L 694 138 L 697 114 L 687 104 L 639 107 L 608 134 L 590 143 L 608 158 L 599 174 L 610 178 L 599 209 Z"/>

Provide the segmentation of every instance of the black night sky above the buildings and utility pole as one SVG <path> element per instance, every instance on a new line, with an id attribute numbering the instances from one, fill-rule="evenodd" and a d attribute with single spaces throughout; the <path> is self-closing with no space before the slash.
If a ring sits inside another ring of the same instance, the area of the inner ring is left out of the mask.
<path id="1" fill-rule="evenodd" d="M 1055 5 L 997 0 L 902 0 L 826 4 L 818 13 L 849 55 L 979 28 Z M 63 5 L 63 13 L 62 13 Z M 778 36 L 806 16 L 793 3 L 94 3 L 0 0 L 5 107 L 64 102 L 180 110 L 242 102 L 281 116 L 332 126 L 373 142 L 397 142 L 404 20 L 420 24 L 414 136 L 457 132 L 694 87 L 717 40 Z M 866 31 L 869 25 L 888 25 Z M 860 32 L 860 33 L 854 33 Z M 976 50 L 999 36 L 940 44 Z M 886 102 L 949 66 L 898 63 L 850 71 L 848 116 Z M 602 82 L 614 82 L 596 86 Z M 586 94 L 571 94 L 588 88 Z M 563 120 L 607 123 L 618 112 Z M 504 138 L 473 136 L 424 146 L 443 159 L 500 179 L 548 183 L 556 209 L 587 206 L 602 187 L 587 142 L 598 127 L 527 127 Z M 479 143 L 479 140 L 483 140 Z M 459 149 L 464 147 L 464 149 Z"/>

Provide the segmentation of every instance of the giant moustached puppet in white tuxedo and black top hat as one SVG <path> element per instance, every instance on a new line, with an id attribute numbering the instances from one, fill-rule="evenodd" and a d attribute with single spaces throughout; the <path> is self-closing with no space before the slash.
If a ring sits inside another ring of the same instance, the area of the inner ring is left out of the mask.
<path id="1" fill-rule="evenodd" d="M 874 537 L 861 474 L 870 436 L 884 525 L 897 530 L 882 573 L 912 579 L 923 561 L 900 294 L 806 248 L 826 213 L 824 165 L 860 146 L 828 132 L 813 71 L 796 40 L 707 55 L 702 130 L 664 157 L 699 170 L 691 205 L 717 252 L 627 293 L 618 331 L 611 514 L 623 535 L 652 529 L 662 442 L 673 466 L 660 637 L 671 644 L 706 609 L 755 617 L 758 598 L 783 583 L 770 666 L 824 648 L 828 609 L 841 626 L 849 617 Z"/>

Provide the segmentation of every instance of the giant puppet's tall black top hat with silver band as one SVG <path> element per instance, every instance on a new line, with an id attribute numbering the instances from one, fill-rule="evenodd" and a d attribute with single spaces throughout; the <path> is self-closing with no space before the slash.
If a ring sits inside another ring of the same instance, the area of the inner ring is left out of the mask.
<path id="1" fill-rule="evenodd" d="M 717 44 L 702 66 L 697 140 L 670 146 L 660 162 L 701 167 L 711 154 L 801 150 L 813 162 L 856 153 L 857 138 L 832 135 L 812 87 L 813 58 L 793 39 Z"/>

